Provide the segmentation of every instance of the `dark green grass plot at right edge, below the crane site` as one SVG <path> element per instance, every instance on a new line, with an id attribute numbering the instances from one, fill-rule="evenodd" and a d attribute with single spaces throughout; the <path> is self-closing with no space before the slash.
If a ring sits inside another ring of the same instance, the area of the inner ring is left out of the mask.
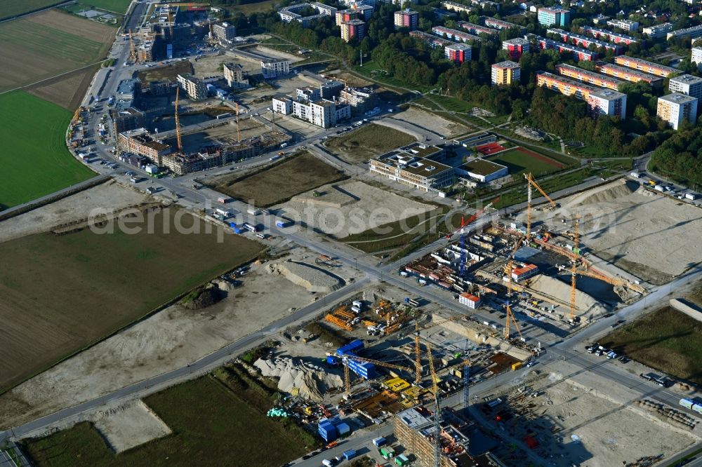
<path id="1" fill-rule="evenodd" d="M 602 339 L 602 345 L 666 374 L 702 384 L 702 323 L 670 306 L 612 332 Z"/>

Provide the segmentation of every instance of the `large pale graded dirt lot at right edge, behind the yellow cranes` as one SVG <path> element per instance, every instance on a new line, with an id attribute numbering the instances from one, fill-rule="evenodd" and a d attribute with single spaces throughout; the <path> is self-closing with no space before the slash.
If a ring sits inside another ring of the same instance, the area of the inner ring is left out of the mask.
<path id="1" fill-rule="evenodd" d="M 560 204 L 560 211 L 580 215 L 586 250 L 649 283 L 667 283 L 702 261 L 695 241 L 702 211 L 688 203 L 620 180 Z"/>

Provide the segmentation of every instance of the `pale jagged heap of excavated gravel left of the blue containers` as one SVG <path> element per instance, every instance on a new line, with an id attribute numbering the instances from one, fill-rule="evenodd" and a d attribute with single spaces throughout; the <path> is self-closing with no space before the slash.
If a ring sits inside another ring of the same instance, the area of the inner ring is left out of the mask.
<path id="1" fill-rule="evenodd" d="M 259 359 L 253 363 L 265 377 L 277 377 L 278 389 L 292 393 L 298 388 L 300 395 L 312 400 L 322 400 L 329 388 L 340 388 L 343 380 L 331 374 L 325 368 L 298 358 L 277 357 L 269 360 Z"/>

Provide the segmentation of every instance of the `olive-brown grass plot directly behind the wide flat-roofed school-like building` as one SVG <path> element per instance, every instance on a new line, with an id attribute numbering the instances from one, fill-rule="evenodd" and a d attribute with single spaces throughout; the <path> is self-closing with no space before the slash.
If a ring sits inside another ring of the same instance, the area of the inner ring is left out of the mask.
<path id="1" fill-rule="evenodd" d="M 326 147 L 348 163 L 362 163 L 373 156 L 415 141 L 408 133 L 371 123 L 345 135 L 330 138 Z"/>

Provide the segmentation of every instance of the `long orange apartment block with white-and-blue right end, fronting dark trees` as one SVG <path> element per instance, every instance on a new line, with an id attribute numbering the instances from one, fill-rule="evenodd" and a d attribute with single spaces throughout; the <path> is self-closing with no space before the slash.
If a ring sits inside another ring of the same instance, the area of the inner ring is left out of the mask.
<path id="1" fill-rule="evenodd" d="M 555 90 L 563 95 L 574 96 L 588 103 L 590 113 L 626 118 L 626 95 L 614 90 L 595 88 L 589 84 L 573 81 L 556 74 L 538 72 L 536 84 Z"/>

